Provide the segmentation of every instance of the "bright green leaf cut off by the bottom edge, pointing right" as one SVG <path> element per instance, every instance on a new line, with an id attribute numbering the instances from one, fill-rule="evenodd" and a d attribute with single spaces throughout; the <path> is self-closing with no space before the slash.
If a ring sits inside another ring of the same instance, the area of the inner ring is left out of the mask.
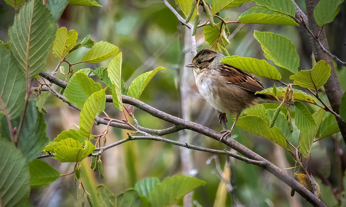
<path id="1" fill-rule="evenodd" d="M 206 183 L 186 175 L 165 178 L 149 192 L 149 206 L 173 206 L 191 190 Z"/>

